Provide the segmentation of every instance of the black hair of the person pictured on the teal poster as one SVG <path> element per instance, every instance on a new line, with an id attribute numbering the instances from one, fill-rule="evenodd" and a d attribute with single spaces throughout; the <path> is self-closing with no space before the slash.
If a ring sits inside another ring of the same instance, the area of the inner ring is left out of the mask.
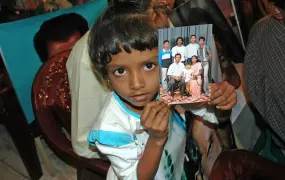
<path id="1" fill-rule="evenodd" d="M 88 31 L 87 21 L 79 14 L 63 14 L 45 21 L 34 36 L 34 47 L 42 62 L 48 60 L 48 43 L 65 41 L 73 33 L 83 36 Z"/>

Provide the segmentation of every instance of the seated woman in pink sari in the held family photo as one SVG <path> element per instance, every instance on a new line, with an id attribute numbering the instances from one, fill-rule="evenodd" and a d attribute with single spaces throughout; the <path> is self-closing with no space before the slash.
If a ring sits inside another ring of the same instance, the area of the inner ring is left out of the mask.
<path id="1" fill-rule="evenodd" d="M 193 71 L 190 79 L 190 95 L 193 99 L 198 99 L 201 96 L 202 78 L 203 72 L 202 65 L 198 62 L 197 56 L 192 56 L 191 69 Z"/>

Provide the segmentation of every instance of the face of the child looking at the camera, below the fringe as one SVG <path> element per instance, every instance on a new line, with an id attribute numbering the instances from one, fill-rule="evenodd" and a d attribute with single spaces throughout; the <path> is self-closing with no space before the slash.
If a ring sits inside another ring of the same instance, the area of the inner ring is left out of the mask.
<path id="1" fill-rule="evenodd" d="M 114 91 L 137 107 L 149 103 L 159 90 L 157 54 L 157 49 L 152 49 L 111 56 L 107 69 Z"/>

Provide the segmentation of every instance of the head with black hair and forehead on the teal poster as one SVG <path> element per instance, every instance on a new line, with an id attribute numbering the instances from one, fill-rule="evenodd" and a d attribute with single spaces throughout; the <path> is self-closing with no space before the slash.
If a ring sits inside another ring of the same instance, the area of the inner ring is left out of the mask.
<path id="1" fill-rule="evenodd" d="M 79 14 L 63 14 L 45 21 L 34 37 L 34 47 L 44 63 L 51 56 L 72 49 L 88 31 L 87 21 Z"/>

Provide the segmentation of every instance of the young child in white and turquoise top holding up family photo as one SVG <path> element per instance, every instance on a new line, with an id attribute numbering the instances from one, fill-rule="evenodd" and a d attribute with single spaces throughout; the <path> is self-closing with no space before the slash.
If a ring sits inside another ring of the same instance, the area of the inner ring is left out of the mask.
<path id="1" fill-rule="evenodd" d="M 127 5 L 109 7 L 90 32 L 92 63 L 113 91 L 88 141 L 110 160 L 107 179 L 186 179 L 185 121 L 156 100 L 156 31 L 149 16 L 132 13 L 135 8 Z M 215 119 L 211 113 L 207 117 Z"/>

